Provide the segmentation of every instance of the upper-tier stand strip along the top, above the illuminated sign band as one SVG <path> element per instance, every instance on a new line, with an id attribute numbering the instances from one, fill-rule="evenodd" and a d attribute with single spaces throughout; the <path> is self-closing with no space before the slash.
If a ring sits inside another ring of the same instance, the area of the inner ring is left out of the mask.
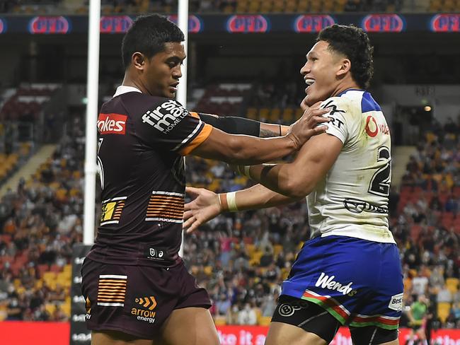
<path id="1" fill-rule="evenodd" d="M 456 0 L 190 0 L 192 13 L 340 13 L 340 12 L 400 12 L 456 11 Z M 104 15 L 116 13 L 177 13 L 177 0 L 101 0 Z M 84 14 L 88 0 L 4 0 L 0 13 Z"/>

